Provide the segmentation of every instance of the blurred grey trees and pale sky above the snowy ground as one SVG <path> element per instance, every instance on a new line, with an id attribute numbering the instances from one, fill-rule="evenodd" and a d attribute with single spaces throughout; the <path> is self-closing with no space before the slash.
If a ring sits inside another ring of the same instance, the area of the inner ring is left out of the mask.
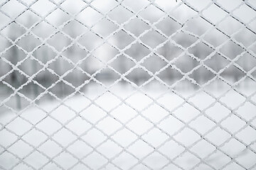
<path id="1" fill-rule="evenodd" d="M 96 86 L 96 80 L 104 86 L 161 80 L 179 90 L 206 84 L 216 90 L 225 88 L 225 81 L 235 88 L 255 88 L 256 72 L 250 72 L 256 65 L 255 12 L 238 6 L 240 1 L 218 1 L 224 10 L 235 9 L 238 21 L 209 2 L 188 1 L 188 7 L 164 0 L 67 0 L 57 7 L 58 1 L 2 1 L 1 101 L 21 86 L 18 92 L 31 100 L 46 89 L 64 98 L 74 88 L 85 92 Z M 198 17 L 196 11 L 203 8 Z M 171 11 L 168 16 L 166 11 Z M 26 83 L 30 77 L 34 81 Z M 46 93 L 36 102 L 53 98 Z M 4 105 L 17 109 L 29 102 L 15 94 Z M 0 110 L 9 109 L 1 105 Z"/>

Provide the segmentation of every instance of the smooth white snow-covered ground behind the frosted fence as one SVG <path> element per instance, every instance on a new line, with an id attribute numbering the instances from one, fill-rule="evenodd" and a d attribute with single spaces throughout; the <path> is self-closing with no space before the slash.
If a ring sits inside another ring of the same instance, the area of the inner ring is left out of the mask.
<path id="1" fill-rule="evenodd" d="M 250 95 L 253 90 L 244 92 Z M 93 91 L 97 89 L 88 89 L 85 95 L 94 98 Z M 114 94 L 125 98 L 131 92 L 120 87 Z M 212 91 L 217 97 L 221 92 Z M 164 91 L 146 93 L 157 98 Z M 256 96 L 251 100 L 255 102 Z M 6 127 L 0 131 L 0 169 L 173 170 L 198 163 L 195 169 L 250 169 L 256 162 L 256 106 L 235 91 L 220 98 L 230 109 L 242 104 L 233 113 L 203 92 L 188 103 L 171 92 L 158 103 L 139 92 L 125 102 L 107 92 L 95 104 L 73 96 L 66 106 L 48 101 L 39 105 L 42 109 L 31 107 L 22 118 L 1 114 L 0 123 Z M 228 164 L 230 157 L 235 159 Z"/>

